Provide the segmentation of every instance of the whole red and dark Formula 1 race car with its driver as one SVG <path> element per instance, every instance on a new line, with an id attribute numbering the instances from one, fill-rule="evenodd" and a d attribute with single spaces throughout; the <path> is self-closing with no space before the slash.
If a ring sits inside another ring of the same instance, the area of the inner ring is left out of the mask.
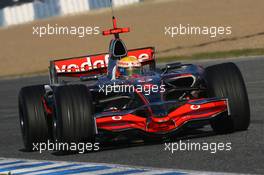
<path id="1" fill-rule="evenodd" d="M 103 32 L 114 35 L 108 53 L 53 60 L 49 84 L 20 90 L 26 150 L 47 140 L 172 137 L 206 124 L 216 133 L 247 130 L 248 96 L 234 63 L 158 68 L 153 47 L 127 50 L 120 39 L 126 32 L 129 28 L 118 28 L 113 17 L 113 29 Z M 132 69 L 126 66 L 137 69 L 128 74 Z"/>

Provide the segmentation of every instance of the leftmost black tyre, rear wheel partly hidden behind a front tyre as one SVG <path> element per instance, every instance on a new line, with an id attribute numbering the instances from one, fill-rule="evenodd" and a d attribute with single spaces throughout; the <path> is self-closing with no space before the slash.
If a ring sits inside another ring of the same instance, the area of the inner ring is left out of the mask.
<path id="1" fill-rule="evenodd" d="M 26 151 L 33 151 L 33 144 L 49 139 L 49 127 L 42 97 L 44 86 L 24 87 L 19 92 L 19 119 Z"/>

